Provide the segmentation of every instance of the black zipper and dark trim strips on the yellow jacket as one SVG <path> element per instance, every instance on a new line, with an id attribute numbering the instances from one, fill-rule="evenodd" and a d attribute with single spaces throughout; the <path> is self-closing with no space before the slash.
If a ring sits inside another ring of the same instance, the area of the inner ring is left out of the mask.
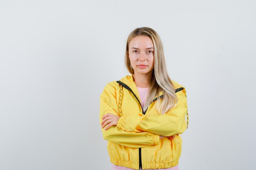
<path id="1" fill-rule="evenodd" d="M 138 97 L 135 95 L 135 93 L 132 91 L 132 89 L 131 89 L 129 86 L 127 86 L 126 84 L 124 84 L 124 83 L 121 82 L 121 81 L 117 81 L 117 83 L 119 83 L 121 86 L 123 86 L 124 88 L 126 88 L 126 89 L 128 89 L 130 92 L 132 92 L 132 94 L 135 96 L 135 98 L 136 98 L 137 101 L 139 102 Z M 178 91 L 181 91 L 181 90 L 183 90 L 183 87 L 180 87 L 180 88 L 175 89 L 175 93 L 177 93 Z M 153 99 L 153 101 L 152 101 L 151 103 L 155 102 L 157 99 L 162 98 L 162 97 L 164 97 L 164 95 L 161 95 L 161 96 L 159 96 L 159 97 L 156 97 L 155 99 Z M 151 104 L 151 103 L 150 103 L 150 104 Z M 150 105 L 150 104 L 149 104 L 149 105 Z M 145 110 L 145 112 L 144 112 L 144 111 L 143 111 L 143 108 L 142 108 L 142 105 L 141 105 L 140 102 L 139 102 L 139 105 L 141 106 L 143 115 L 145 115 L 145 114 L 146 114 L 146 111 L 148 110 L 148 108 L 147 108 L 147 109 Z M 139 169 L 142 170 L 141 148 L 139 148 Z"/>

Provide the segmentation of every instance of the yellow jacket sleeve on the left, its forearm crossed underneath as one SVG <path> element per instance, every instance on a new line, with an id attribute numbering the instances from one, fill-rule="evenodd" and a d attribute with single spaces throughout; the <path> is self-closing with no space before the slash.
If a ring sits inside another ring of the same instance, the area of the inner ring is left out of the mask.
<path id="1" fill-rule="evenodd" d="M 108 83 L 100 96 L 100 124 L 103 115 L 111 113 L 121 117 L 118 114 L 118 105 L 116 98 L 116 82 Z M 101 128 L 103 138 L 116 144 L 130 148 L 141 148 L 159 144 L 159 135 L 150 132 L 127 132 L 117 126 L 111 126 L 108 130 Z"/>

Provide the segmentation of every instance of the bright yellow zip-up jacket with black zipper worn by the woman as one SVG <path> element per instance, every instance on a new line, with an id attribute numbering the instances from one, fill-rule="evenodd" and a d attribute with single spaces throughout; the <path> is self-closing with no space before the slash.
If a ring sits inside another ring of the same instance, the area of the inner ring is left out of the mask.
<path id="1" fill-rule="evenodd" d="M 178 102 L 164 115 L 157 112 L 155 104 L 155 100 L 159 99 L 157 97 L 163 97 L 163 92 L 155 97 L 146 113 L 143 113 L 132 75 L 105 86 L 100 96 L 100 124 L 107 113 L 120 117 L 117 126 L 111 126 L 108 130 L 101 128 L 103 138 L 108 140 L 112 163 L 132 169 L 170 168 L 178 164 L 182 151 L 179 134 L 187 128 L 188 110 L 184 86 L 172 82 Z M 159 139 L 159 135 L 176 136 L 172 140 L 169 137 Z"/>

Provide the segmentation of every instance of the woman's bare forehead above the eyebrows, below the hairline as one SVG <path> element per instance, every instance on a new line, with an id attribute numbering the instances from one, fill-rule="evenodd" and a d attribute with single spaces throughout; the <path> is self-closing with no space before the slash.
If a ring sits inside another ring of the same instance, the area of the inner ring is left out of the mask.
<path id="1" fill-rule="evenodd" d="M 154 44 L 148 36 L 139 35 L 135 36 L 134 38 L 132 38 L 132 40 L 130 40 L 129 49 L 132 47 L 136 47 L 138 49 L 147 49 L 150 47 L 154 48 Z"/>

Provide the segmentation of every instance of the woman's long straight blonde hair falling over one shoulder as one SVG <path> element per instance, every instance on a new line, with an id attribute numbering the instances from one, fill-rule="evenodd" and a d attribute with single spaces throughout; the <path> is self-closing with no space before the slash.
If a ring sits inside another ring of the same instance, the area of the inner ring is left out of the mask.
<path id="1" fill-rule="evenodd" d="M 163 91 L 163 98 L 158 98 L 156 100 L 157 111 L 161 114 L 167 113 L 171 108 L 177 104 L 177 96 L 175 94 L 175 88 L 173 82 L 168 76 L 166 70 L 166 64 L 164 60 L 164 49 L 162 41 L 155 30 L 149 27 L 141 27 L 133 30 L 127 38 L 126 42 L 126 53 L 125 53 L 125 63 L 128 71 L 134 74 L 134 70 L 130 64 L 128 45 L 132 38 L 138 35 L 148 36 L 154 44 L 154 56 L 155 56 L 155 66 L 153 68 L 153 73 L 151 77 L 151 84 L 148 90 L 148 97 L 146 99 L 146 104 L 143 111 L 148 108 L 150 103 L 153 101 L 154 97 L 157 96 L 161 91 Z"/>

